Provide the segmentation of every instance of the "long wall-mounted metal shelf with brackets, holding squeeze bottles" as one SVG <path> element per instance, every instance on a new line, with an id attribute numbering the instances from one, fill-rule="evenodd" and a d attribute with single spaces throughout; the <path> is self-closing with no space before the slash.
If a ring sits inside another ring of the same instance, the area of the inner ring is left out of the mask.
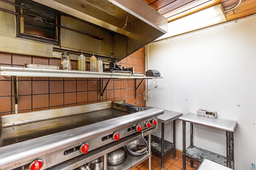
<path id="1" fill-rule="evenodd" d="M 39 68 L 22 68 L 22 67 L 0 67 L 1 76 L 11 76 L 14 80 L 14 96 L 15 96 L 15 113 L 18 113 L 18 77 L 55 77 L 55 78 L 100 78 L 101 82 L 101 102 L 103 101 L 103 93 L 111 78 L 120 79 L 140 79 L 138 86 L 135 81 L 135 96 L 136 91 L 144 81 L 144 79 L 162 78 L 149 77 L 143 74 L 117 73 L 117 72 L 89 72 L 77 70 L 51 70 Z M 103 78 L 108 78 L 108 82 L 103 88 Z"/>

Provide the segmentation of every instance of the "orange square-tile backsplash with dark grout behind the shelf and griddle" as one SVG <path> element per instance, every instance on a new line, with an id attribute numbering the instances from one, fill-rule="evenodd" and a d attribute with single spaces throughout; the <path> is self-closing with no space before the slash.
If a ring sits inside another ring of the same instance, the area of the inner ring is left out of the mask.
<path id="1" fill-rule="evenodd" d="M 60 59 L 34 57 L 0 52 L 0 66 L 24 67 L 24 64 L 57 65 L 62 69 Z M 77 70 L 78 61 L 71 61 Z M 136 72 L 145 73 L 145 48 L 134 52 L 118 62 L 122 66 L 134 67 Z M 86 63 L 90 70 L 90 63 Z M 100 79 L 97 78 L 18 78 L 18 113 L 76 106 L 100 102 Z M 108 79 L 103 79 L 103 87 Z M 136 85 L 140 82 L 137 81 Z M 103 93 L 103 102 L 126 100 L 127 103 L 146 106 L 143 100 L 145 81 L 137 90 L 135 98 L 134 79 L 111 79 Z M 0 117 L 14 114 L 14 85 L 10 77 L 0 76 Z"/>

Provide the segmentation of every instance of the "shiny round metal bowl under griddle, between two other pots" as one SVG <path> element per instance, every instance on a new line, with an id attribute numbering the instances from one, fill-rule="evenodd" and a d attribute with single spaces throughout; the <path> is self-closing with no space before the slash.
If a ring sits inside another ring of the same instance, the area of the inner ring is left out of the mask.
<path id="1" fill-rule="evenodd" d="M 123 147 L 114 150 L 108 154 L 108 164 L 117 165 L 122 163 L 127 158 L 127 152 Z"/>

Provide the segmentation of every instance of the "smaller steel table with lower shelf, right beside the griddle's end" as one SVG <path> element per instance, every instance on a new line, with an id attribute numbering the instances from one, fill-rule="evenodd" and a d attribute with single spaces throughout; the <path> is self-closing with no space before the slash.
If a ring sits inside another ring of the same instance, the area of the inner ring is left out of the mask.
<path id="1" fill-rule="evenodd" d="M 182 116 L 183 113 L 175 112 L 175 111 L 169 111 L 164 110 L 164 114 L 158 115 L 158 122 L 162 123 L 162 139 L 153 136 L 151 139 L 151 146 L 152 150 L 154 152 L 157 152 L 158 154 L 161 154 L 161 169 L 164 169 L 164 155 L 169 151 L 173 149 L 173 158 L 175 159 L 175 122 L 176 119 L 178 119 L 180 116 Z M 164 140 L 164 124 L 170 123 L 173 121 L 173 143 Z"/>

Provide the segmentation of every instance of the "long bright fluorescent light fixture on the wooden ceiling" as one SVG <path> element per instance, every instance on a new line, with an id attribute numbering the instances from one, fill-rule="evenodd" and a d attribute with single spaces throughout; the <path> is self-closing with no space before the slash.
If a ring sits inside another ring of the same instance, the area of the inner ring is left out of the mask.
<path id="1" fill-rule="evenodd" d="M 168 32 L 158 39 L 187 33 L 226 21 L 222 4 L 212 6 L 200 12 L 168 23 Z"/>

